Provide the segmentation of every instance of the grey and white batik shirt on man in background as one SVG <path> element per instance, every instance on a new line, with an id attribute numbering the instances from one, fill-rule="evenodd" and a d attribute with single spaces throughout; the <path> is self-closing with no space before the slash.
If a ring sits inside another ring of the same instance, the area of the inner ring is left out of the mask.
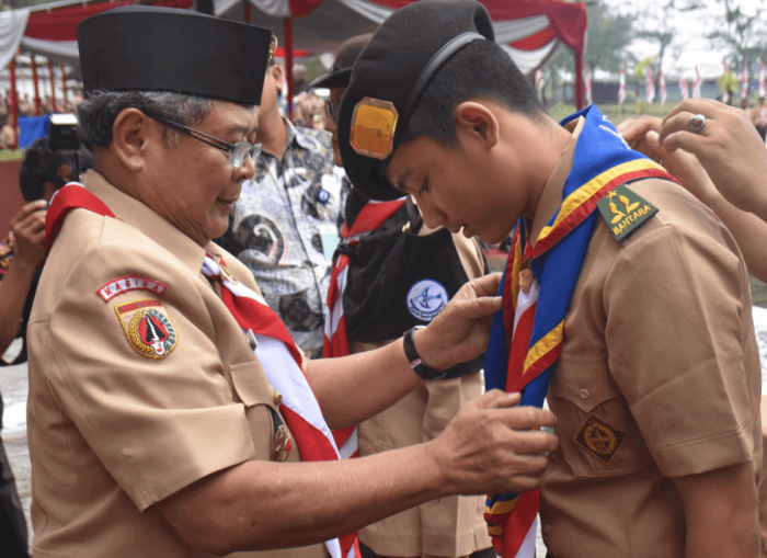
<path id="1" fill-rule="evenodd" d="M 283 158 L 262 152 L 216 242 L 253 272 L 296 344 L 319 357 L 348 181 L 333 164 L 329 133 L 286 125 Z"/>

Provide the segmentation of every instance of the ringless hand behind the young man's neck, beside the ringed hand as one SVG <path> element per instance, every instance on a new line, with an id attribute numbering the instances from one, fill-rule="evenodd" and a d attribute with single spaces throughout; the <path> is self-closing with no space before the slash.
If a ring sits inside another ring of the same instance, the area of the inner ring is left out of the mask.
<path id="1" fill-rule="evenodd" d="M 709 205 L 709 201 L 717 195 L 717 187 L 695 156 L 683 149 L 672 152 L 664 148 L 659 135 L 662 125 L 661 118 L 640 116 L 621 122 L 618 125 L 618 132 L 631 149 L 646 155 L 663 166 L 679 184 Z"/>

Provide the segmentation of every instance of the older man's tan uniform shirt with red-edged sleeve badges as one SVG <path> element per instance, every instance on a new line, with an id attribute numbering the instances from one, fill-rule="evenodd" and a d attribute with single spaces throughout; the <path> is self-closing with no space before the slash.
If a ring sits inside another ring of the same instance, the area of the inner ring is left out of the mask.
<path id="1" fill-rule="evenodd" d="M 277 410 L 259 360 L 210 283 L 205 252 L 253 276 L 214 243 L 204 249 L 90 171 L 88 190 L 117 218 L 77 209 L 48 257 L 28 328 L 27 429 L 33 556 L 202 557 L 152 504 L 211 472 L 270 460 Z M 165 285 L 105 301 L 125 276 Z M 163 358 L 131 346 L 116 307 L 161 303 L 176 342 Z M 299 460 L 293 442 L 288 460 Z M 324 545 L 266 553 L 327 557 Z M 238 554 L 238 556 L 265 554 Z"/>

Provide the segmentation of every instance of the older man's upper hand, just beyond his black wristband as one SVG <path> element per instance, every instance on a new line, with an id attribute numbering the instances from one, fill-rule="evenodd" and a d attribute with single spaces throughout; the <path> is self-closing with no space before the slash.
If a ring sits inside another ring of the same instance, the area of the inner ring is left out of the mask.
<path id="1" fill-rule="evenodd" d="M 424 364 L 444 371 L 467 362 L 488 349 L 492 315 L 501 309 L 495 296 L 501 274 L 470 281 L 413 341 Z"/>

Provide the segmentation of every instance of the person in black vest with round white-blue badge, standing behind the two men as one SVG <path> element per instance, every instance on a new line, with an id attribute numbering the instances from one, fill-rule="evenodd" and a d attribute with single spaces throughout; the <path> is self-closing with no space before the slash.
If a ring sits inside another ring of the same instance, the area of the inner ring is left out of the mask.
<path id="1" fill-rule="evenodd" d="M 334 115 L 354 60 L 371 36 L 346 41 L 328 75 L 311 83 L 330 89 L 325 129 L 332 134 L 339 167 Z M 413 326 L 428 324 L 463 283 L 488 273 L 477 239 L 425 227 L 410 197 L 379 204 L 352 187 L 345 209 L 345 241 L 334 258 L 325 316 L 325 357 L 371 351 Z M 477 373 L 427 382 L 356 429 L 340 431 L 342 454 L 358 449 L 364 457 L 434 440 L 466 403 L 482 395 L 482 358 L 459 366 Z M 483 512 L 482 497 L 426 502 L 359 529 L 360 550 L 365 558 L 494 555 Z"/>

